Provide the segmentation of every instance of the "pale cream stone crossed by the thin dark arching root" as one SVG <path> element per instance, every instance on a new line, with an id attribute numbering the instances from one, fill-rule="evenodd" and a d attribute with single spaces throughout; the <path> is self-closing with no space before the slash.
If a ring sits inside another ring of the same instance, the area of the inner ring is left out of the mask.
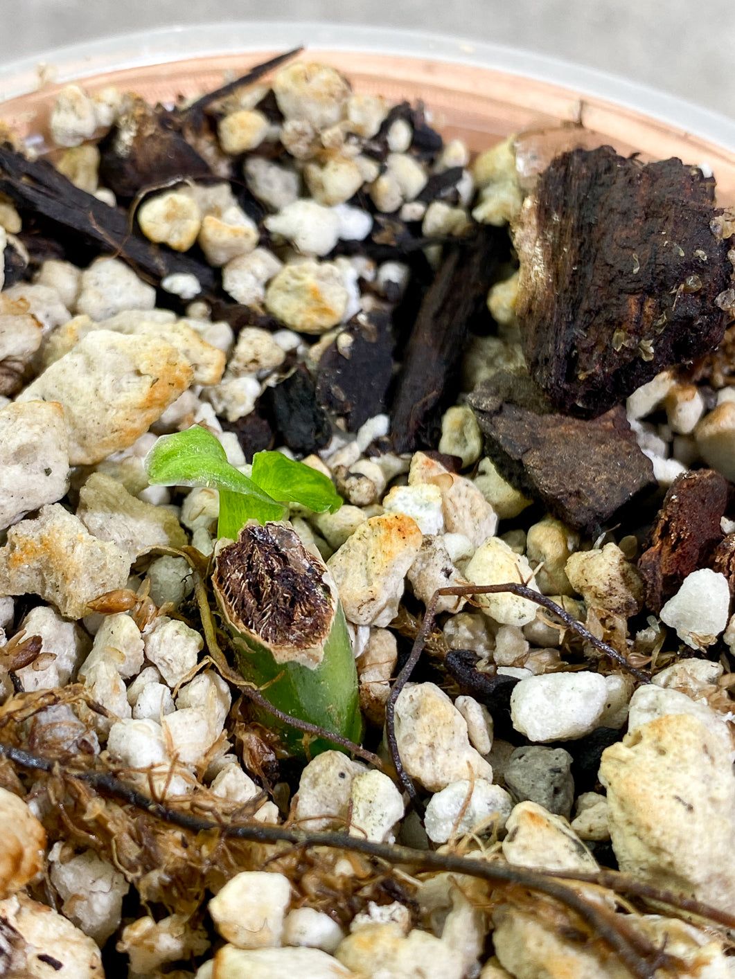
<path id="1" fill-rule="evenodd" d="M 488 537 L 477 548 L 465 569 L 472 584 L 527 584 L 538 591 L 528 561 L 500 537 Z M 510 592 L 477 595 L 475 601 L 485 615 L 506 626 L 527 626 L 536 618 L 537 606 Z"/>

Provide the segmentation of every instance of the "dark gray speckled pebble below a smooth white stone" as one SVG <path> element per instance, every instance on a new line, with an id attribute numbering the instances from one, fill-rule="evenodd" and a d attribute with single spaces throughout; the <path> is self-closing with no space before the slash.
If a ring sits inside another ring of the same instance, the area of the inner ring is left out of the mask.
<path id="1" fill-rule="evenodd" d="M 530 800 L 569 818 L 574 802 L 571 755 L 564 748 L 516 748 L 505 770 L 506 786 L 517 802 Z"/>

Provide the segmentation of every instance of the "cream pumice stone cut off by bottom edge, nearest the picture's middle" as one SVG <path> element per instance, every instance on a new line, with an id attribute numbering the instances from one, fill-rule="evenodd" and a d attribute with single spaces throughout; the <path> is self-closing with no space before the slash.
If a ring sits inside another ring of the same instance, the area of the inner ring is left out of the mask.
<path id="1" fill-rule="evenodd" d="M 427 931 L 415 928 L 404 935 L 392 922 L 368 925 L 348 935 L 334 955 L 360 976 L 462 979 L 465 974 L 461 953 Z"/>

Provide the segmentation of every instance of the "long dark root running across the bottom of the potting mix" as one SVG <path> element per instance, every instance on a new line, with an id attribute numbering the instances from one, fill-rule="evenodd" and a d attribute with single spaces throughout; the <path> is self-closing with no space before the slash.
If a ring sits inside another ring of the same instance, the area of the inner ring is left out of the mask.
<path id="1" fill-rule="evenodd" d="M 544 894 L 578 914 L 592 929 L 593 933 L 602 938 L 619 956 L 636 979 L 655 979 L 656 968 L 669 962 L 673 964 L 674 961 L 667 958 L 666 962 L 662 963 L 661 950 L 648 942 L 645 937 L 638 934 L 634 938 L 631 937 L 628 935 L 627 929 L 619 927 L 619 922 L 615 921 L 613 914 L 609 911 L 587 901 L 563 881 L 539 870 L 514 866 L 506 862 L 481 861 L 456 854 L 373 843 L 359 836 L 349 836 L 340 832 L 309 832 L 294 827 L 270 826 L 257 821 L 249 823 L 218 822 L 171 809 L 164 803 L 155 801 L 125 784 L 110 772 L 63 770 L 58 762 L 40 758 L 10 745 L 0 744 L 0 755 L 25 769 L 46 771 L 84 782 L 99 792 L 111 795 L 135 809 L 171 822 L 173 825 L 192 833 L 216 830 L 226 839 L 256 843 L 289 843 L 292 846 L 304 848 L 329 847 L 347 850 L 389 865 L 404 864 L 411 866 L 415 871 L 435 870 L 466 874 L 498 886 L 524 887 L 530 891 Z M 566 876 L 572 879 L 574 875 L 567 874 Z M 649 958 L 653 960 L 653 963 L 647 960 Z"/>

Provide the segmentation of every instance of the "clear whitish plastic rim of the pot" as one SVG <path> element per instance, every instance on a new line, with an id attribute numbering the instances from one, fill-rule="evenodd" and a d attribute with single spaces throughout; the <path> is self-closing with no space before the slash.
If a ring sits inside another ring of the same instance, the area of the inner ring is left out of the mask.
<path id="1" fill-rule="evenodd" d="M 647 85 L 520 48 L 352 24 L 186 24 L 84 41 L 0 66 L 0 102 L 35 91 L 39 66 L 52 66 L 54 81 L 64 83 L 186 58 L 285 51 L 300 45 L 315 55 L 319 50 L 360 51 L 504 71 L 564 88 L 577 98 L 588 96 L 624 107 L 735 153 L 735 120 Z"/>

